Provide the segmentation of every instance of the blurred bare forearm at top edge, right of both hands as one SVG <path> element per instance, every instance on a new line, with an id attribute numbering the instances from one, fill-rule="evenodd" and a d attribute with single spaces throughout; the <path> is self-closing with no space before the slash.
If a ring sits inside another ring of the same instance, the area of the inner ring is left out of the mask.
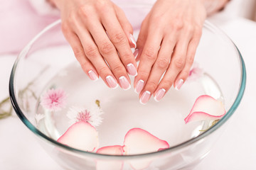
<path id="1" fill-rule="evenodd" d="M 230 0 L 201 0 L 206 7 L 207 15 L 220 11 Z"/>

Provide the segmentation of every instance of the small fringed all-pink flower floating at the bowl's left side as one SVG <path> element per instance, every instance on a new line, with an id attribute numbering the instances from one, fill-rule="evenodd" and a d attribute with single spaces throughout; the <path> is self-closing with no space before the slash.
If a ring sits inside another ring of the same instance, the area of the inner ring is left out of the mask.
<path id="1" fill-rule="evenodd" d="M 50 111 L 60 111 L 65 107 L 66 94 L 63 89 L 50 89 L 41 98 L 41 106 Z"/>

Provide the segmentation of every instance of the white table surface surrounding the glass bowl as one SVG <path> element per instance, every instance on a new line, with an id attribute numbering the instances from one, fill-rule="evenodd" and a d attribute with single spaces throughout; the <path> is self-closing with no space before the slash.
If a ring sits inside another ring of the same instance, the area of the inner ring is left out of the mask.
<path id="1" fill-rule="evenodd" d="M 218 23 L 240 49 L 247 69 L 247 86 L 227 129 L 195 169 L 256 169 L 256 23 L 243 18 L 228 22 L 213 18 L 212 21 Z M 9 73 L 15 57 L 0 56 L 0 99 L 8 95 Z M 14 113 L 0 120 L 0 169 L 62 168 L 46 154 Z"/>

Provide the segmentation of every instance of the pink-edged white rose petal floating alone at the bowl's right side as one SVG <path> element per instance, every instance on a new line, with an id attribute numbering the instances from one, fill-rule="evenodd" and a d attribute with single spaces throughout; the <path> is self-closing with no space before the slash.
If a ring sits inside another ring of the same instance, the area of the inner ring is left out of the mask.
<path id="1" fill-rule="evenodd" d="M 203 95 L 196 99 L 191 112 L 184 119 L 185 123 L 200 120 L 216 120 L 225 115 L 223 103 L 215 98 Z"/>

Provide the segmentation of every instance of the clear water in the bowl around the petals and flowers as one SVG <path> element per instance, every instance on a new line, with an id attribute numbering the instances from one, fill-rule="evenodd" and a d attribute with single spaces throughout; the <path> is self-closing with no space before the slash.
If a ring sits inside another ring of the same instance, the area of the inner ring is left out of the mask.
<path id="1" fill-rule="evenodd" d="M 180 91 L 171 88 L 160 102 L 151 97 L 149 103 L 142 105 L 133 88 L 128 91 L 121 88 L 113 90 L 101 79 L 91 81 L 77 63 L 62 69 L 47 82 L 42 95 L 52 88 L 60 88 L 66 92 L 66 106 L 61 111 L 48 111 L 41 106 L 39 100 L 36 114 L 44 116 L 37 122 L 38 129 L 48 137 L 58 140 L 70 126 L 68 110 L 73 106 L 90 108 L 98 100 L 104 112 L 101 115 L 101 125 L 96 127 L 99 132 L 99 147 L 123 145 L 124 135 L 132 128 L 142 128 L 161 140 L 166 140 L 170 146 L 177 145 L 196 137 L 212 124 L 208 120 L 185 124 L 184 118 L 198 96 L 208 94 L 223 101 L 218 84 L 204 73 L 199 79 L 184 84 Z"/>

